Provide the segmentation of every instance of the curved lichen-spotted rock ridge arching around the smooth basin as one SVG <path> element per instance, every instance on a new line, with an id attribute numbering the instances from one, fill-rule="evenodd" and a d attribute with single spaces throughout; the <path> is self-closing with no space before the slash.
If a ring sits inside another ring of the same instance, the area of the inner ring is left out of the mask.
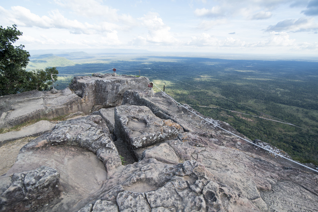
<path id="1" fill-rule="evenodd" d="M 51 133 L 45 133 L 29 142 L 22 150 L 63 144 L 79 146 L 95 153 L 105 164 L 108 174 L 121 166 L 119 154 L 108 128 L 99 115 L 62 121 L 56 124 Z"/>

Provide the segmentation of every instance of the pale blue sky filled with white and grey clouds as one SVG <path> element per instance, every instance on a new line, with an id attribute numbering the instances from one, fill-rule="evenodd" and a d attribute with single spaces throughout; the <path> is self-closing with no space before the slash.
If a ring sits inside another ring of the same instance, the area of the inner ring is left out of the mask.
<path id="1" fill-rule="evenodd" d="M 0 20 L 26 50 L 318 55 L 318 0 L 10 0 Z"/>

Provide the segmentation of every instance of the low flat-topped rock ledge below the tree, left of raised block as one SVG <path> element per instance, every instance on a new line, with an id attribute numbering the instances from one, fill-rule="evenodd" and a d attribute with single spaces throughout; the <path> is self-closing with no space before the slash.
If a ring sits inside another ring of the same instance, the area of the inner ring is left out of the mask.
<path id="1" fill-rule="evenodd" d="M 12 127 L 27 120 L 54 118 L 84 111 L 83 100 L 66 88 L 58 93 L 29 91 L 0 97 L 0 127 Z"/>

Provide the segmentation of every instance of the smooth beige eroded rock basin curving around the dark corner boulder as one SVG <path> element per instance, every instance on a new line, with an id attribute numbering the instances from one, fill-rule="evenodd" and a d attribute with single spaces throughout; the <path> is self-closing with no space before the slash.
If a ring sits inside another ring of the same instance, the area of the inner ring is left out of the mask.
<path id="1" fill-rule="evenodd" d="M 58 170 L 63 189 L 59 202 L 49 208 L 44 207 L 43 211 L 76 211 L 96 198 L 107 179 L 105 166 L 96 154 L 75 146 L 49 146 L 19 154 L 17 162 L 6 175 L 41 166 Z"/>

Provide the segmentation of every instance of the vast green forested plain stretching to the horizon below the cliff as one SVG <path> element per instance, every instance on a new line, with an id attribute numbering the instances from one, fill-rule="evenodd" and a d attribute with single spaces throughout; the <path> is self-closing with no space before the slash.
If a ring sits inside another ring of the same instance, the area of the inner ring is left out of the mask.
<path id="1" fill-rule="evenodd" d="M 71 52 L 34 55 L 27 70 L 53 66 L 60 74 L 117 68 L 117 74 L 136 76 L 139 72 L 118 69 L 140 70 L 159 88 L 165 85 L 176 101 L 229 123 L 251 140 L 270 143 L 294 160 L 318 165 L 318 60 Z M 67 87 L 73 77 L 60 75 L 55 87 Z"/>

